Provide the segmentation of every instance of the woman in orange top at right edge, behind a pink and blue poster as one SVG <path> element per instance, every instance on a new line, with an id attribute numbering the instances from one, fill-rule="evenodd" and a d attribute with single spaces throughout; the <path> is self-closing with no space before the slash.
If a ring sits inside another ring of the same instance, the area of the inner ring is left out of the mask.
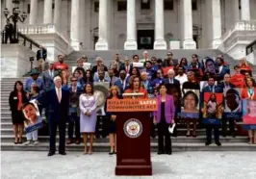
<path id="1" fill-rule="evenodd" d="M 246 88 L 242 90 L 243 99 L 256 100 L 256 87 L 253 78 L 249 77 L 245 79 Z M 256 143 L 256 130 L 248 130 L 249 144 Z M 254 141 L 253 141 L 254 137 Z"/>

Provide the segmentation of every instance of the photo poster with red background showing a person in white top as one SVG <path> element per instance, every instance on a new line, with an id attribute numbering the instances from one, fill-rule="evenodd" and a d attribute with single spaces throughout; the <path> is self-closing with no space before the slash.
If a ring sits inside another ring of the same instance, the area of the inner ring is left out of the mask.
<path id="1" fill-rule="evenodd" d="M 203 96 L 203 123 L 219 125 L 223 113 L 223 94 L 217 92 L 204 92 Z"/>

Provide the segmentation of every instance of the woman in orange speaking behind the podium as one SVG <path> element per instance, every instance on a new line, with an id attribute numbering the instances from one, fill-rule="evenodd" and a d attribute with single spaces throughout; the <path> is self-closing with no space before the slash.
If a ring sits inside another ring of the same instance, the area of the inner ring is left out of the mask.
<path id="1" fill-rule="evenodd" d="M 139 98 L 148 98 L 147 91 L 141 87 L 141 78 L 139 76 L 131 76 L 129 84 L 130 88 L 125 90 L 124 93 L 143 93 Z M 135 98 L 135 96 L 131 98 Z"/>

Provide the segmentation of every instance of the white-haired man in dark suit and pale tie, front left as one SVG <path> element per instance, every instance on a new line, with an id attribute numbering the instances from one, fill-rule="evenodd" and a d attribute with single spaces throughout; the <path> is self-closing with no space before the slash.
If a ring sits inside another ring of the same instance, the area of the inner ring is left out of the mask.
<path id="1" fill-rule="evenodd" d="M 62 78 L 54 78 L 54 89 L 46 92 L 46 106 L 49 107 L 48 122 L 50 133 L 50 149 L 48 156 L 56 151 L 56 132 L 59 128 L 59 154 L 65 155 L 65 123 L 68 116 L 69 91 L 62 88 Z"/>

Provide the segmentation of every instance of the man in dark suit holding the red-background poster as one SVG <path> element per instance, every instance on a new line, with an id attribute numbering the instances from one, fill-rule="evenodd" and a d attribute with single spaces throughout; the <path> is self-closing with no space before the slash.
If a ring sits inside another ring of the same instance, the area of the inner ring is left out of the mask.
<path id="1" fill-rule="evenodd" d="M 214 77 L 209 77 L 208 78 L 208 86 L 204 87 L 202 90 L 202 101 L 204 101 L 203 99 L 203 93 L 204 92 L 222 92 L 222 90 L 220 88 L 218 88 L 218 86 L 215 85 L 215 78 Z M 206 126 L 206 137 L 207 137 L 207 141 L 205 142 L 205 145 L 210 145 L 212 143 L 212 131 L 214 129 L 214 133 L 215 133 L 215 142 L 218 146 L 221 145 L 221 143 L 219 142 L 219 130 L 218 130 L 218 125 L 214 126 L 214 125 L 207 125 Z"/>

